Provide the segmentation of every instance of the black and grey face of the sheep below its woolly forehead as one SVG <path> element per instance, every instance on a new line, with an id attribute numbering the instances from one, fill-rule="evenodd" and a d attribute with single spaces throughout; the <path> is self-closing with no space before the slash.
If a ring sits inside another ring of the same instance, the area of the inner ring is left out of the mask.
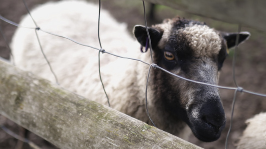
<path id="1" fill-rule="evenodd" d="M 218 55 L 201 58 L 194 56 L 186 42 L 181 43 L 170 40 L 163 49 L 155 48 L 155 63 L 185 78 L 217 84 L 218 71 L 227 55 L 226 46 L 222 46 Z M 158 97 L 164 100 L 166 110 L 185 121 L 199 140 L 217 140 L 226 122 L 218 88 L 188 82 L 164 72 L 153 73 L 153 81 L 165 89 L 158 90 Z"/>

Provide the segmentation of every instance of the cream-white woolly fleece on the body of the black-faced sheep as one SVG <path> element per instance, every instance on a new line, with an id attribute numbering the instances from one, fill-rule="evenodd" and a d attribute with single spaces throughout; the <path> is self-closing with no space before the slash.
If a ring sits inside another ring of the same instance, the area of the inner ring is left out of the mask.
<path id="1" fill-rule="evenodd" d="M 98 5 L 86 1 L 61 0 L 42 4 L 31 11 L 37 25 L 45 31 L 66 36 L 80 43 L 100 48 L 97 37 Z M 139 52 L 140 44 L 107 11 L 101 10 L 100 38 L 102 48 L 119 56 L 141 59 L 151 63 L 148 53 Z M 32 26 L 29 15 L 21 26 Z M 37 31 L 47 59 L 57 75 L 60 86 L 89 100 L 107 105 L 98 72 L 98 51 L 78 45 L 67 39 Z M 14 62 L 17 67 L 30 71 L 52 82 L 54 76 L 41 54 L 35 31 L 17 28 L 12 38 Z M 149 122 L 145 109 L 145 87 L 148 65 L 121 59 L 108 54 L 100 55 L 102 80 L 110 99 L 111 108 L 143 122 Z M 166 128 L 165 121 L 153 108 L 152 91 L 148 88 L 148 108 L 158 128 Z M 184 123 L 184 122 L 183 122 Z M 185 123 L 184 123 L 185 125 Z M 188 126 L 176 126 L 178 137 L 187 140 Z M 176 129 L 173 128 L 173 129 Z"/>

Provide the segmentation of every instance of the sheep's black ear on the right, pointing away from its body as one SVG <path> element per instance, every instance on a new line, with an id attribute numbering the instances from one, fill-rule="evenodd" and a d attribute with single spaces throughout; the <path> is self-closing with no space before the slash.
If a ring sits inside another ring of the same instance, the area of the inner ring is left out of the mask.
<path id="1" fill-rule="evenodd" d="M 227 41 L 228 49 L 236 46 L 237 35 L 238 33 L 222 33 L 222 36 Z M 240 32 L 238 45 L 248 40 L 250 36 L 251 34 L 249 32 Z"/>

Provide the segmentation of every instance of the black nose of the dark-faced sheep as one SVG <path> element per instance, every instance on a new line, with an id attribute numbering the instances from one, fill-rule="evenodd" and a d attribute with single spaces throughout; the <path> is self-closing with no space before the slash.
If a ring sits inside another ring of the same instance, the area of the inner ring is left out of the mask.
<path id="1" fill-rule="evenodd" d="M 225 111 L 219 97 L 207 100 L 200 110 L 200 115 L 205 123 L 211 125 L 217 131 L 225 125 Z"/>

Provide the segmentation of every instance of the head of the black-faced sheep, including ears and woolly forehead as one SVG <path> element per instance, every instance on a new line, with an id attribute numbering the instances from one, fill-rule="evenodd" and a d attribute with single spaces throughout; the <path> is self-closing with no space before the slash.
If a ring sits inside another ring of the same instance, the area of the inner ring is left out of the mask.
<path id="1" fill-rule="evenodd" d="M 205 23 L 179 17 L 164 20 L 148 30 L 155 64 L 173 74 L 215 85 L 228 48 L 235 46 L 237 36 L 236 33 L 222 33 Z M 145 26 L 137 25 L 133 32 L 138 42 L 146 46 Z M 239 43 L 249 36 L 248 32 L 241 32 Z M 165 106 L 172 118 L 186 122 L 201 141 L 219 139 L 226 119 L 218 88 L 189 82 L 158 70 L 153 72 L 152 81 L 155 100 L 161 101 L 158 103 Z"/>

